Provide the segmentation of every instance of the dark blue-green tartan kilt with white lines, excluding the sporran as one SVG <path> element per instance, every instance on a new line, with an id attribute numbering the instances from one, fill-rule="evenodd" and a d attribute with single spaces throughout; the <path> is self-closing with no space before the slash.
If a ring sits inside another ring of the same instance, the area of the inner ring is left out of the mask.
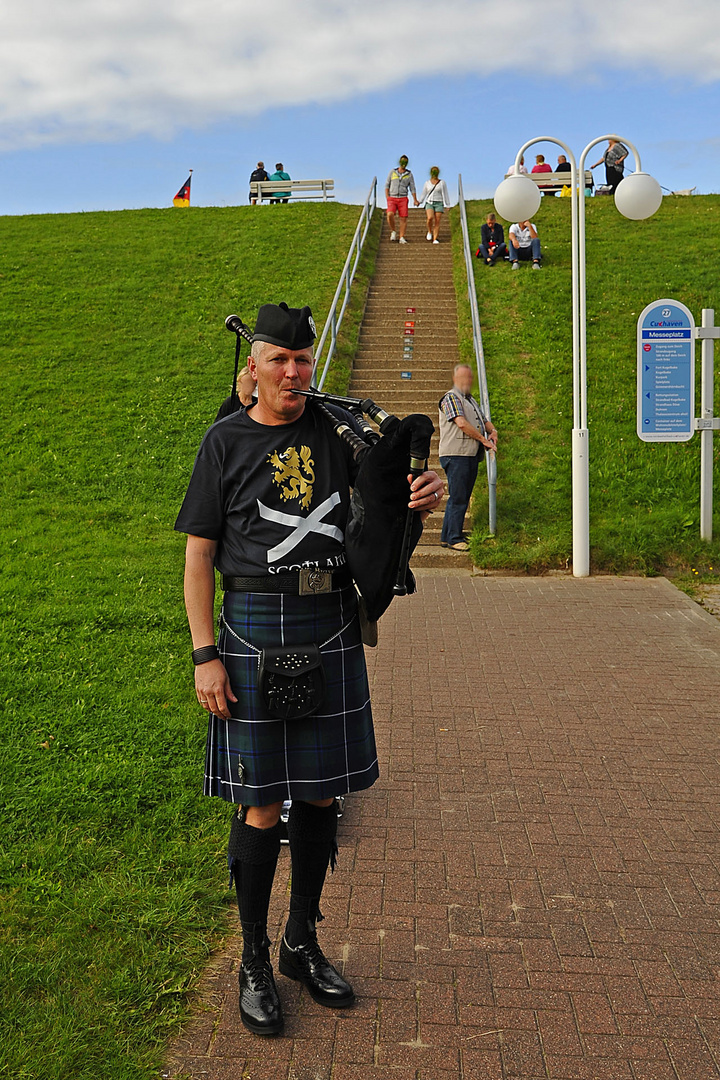
<path id="1" fill-rule="evenodd" d="M 329 637 L 321 649 L 326 691 L 318 712 L 302 719 L 269 719 L 255 650 L 323 645 Z M 227 592 L 218 649 L 237 701 L 230 704 L 229 720 L 209 716 L 203 794 L 266 806 L 327 799 L 375 783 L 378 754 L 352 585 L 316 596 Z"/>

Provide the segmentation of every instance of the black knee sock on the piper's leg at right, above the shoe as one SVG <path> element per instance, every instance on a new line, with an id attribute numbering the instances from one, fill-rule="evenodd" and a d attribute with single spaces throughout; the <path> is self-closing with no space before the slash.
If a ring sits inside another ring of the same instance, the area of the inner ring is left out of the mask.
<path id="1" fill-rule="evenodd" d="M 290 948 L 308 941 L 315 922 L 322 919 L 320 897 L 329 863 L 335 867 L 338 850 L 338 811 L 335 802 L 316 807 L 293 801 L 287 821 L 287 837 L 293 862 L 290 914 L 285 940 Z"/>

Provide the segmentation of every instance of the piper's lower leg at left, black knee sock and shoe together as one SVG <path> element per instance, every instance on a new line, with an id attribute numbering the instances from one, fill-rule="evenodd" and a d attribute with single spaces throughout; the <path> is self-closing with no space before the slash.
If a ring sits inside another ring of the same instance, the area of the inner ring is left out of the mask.
<path id="1" fill-rule="evenodd" d="M 283 1029 L 283 1007 L 270 963 L 268 907 L 280 853 L 280 823 L 272 828 L 248 825 L 233 812 L 228 843 L 230 880 L 235 880 L 243 961 L 240 969 L 240 1017 L 256 1035 Z"/>

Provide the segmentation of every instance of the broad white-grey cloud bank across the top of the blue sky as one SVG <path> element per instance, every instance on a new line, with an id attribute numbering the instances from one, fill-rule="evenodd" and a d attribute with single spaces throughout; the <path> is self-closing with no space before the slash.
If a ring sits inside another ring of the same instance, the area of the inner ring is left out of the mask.
<path id="1" fill-rule="evenodd" d="M 0 148 L 171 135 L 432 75 L 720 79 L 717 0 L 3 0 Z"/>

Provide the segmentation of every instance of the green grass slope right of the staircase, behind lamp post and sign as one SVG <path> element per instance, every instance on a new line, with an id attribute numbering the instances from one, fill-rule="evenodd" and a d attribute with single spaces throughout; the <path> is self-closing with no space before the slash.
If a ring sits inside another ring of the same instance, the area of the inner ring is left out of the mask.
<path id="1" fill-rule="evenodd" d="M 468 203 L 474 249 L 490 210 L 489 200 Z M 488 268 L 475 260 L 490 403 L 501 434 L 494 539 L 486 535 L 484 473 L 475 501 L 472 549 L 477 565 L 488 568 L 539 570 L 567 567 L 572 558 L 570 200 L 544 199 L 534 220 L 545 255 L 540 273 L 528 265 L 513 272 L 507 264 Z M 462 350 L 471 359 L 457 217 L 453 233 Z M 718 197 L 666 198 L 647 221 L 627 221 L 611 199 L 587 200 L 590 561 L 596 570 L 720 566 L 720 543 L 699 540 L 698 436 L 649 445 L 635 431 L 637 316 L 666 296 L 687 303 L 698 323 L 702 308 L 720 309 L 712 254 L 719 240 Z M 699 408 L 699 346 L 697 384 Z M 717 460 L 717 436 L 716 446 Z M 720 534 L 720 507 L 715 531 Z"/>

